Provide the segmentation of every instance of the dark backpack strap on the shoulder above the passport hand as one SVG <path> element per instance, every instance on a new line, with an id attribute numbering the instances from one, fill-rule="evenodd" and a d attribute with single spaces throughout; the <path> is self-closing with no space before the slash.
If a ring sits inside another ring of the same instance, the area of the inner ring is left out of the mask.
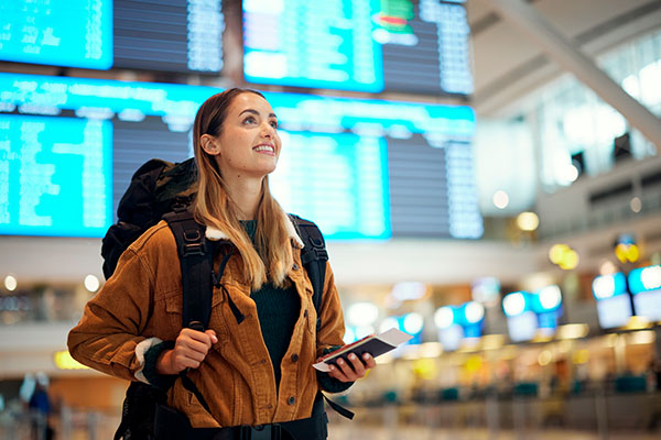
<path id="1" fill-rule="evenodd" d="M 324 280 L 326 279 L 326 262 L 328 261 L 328 252 L 326 252 L 326 242 L 319 228 L 312 221 L 304 220 L 299 216 L 290 215 L 293 223 L 296 226 L 304 248 L 301 251 L 301 263 L 307 272 L 310 282 L 312 283 L 313 296 L 312 301 L 317 312 L 317 331 L 322 327 L 319 318 L 319 309 L 322 307 L 322 295 L 324 293 Z"/>

